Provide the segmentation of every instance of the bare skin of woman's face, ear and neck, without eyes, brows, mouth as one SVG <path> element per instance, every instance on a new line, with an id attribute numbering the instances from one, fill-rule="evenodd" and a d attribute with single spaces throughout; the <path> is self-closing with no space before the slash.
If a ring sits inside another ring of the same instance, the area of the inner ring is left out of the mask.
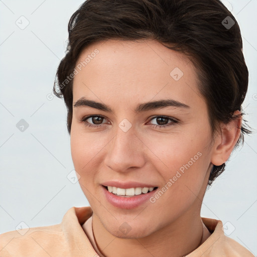
<path id="1" fill-rule="evenodd" d="M 223 164 L 233 150 L 241 118 L 222 123 L 222 133 L 212 142 L 196 69 L 185 55 L 153 40 L 108 40 L 84 49 L 77 64 L 96 48 L 99 53 L 74 77 L 73 103 L 86 97 L 114 112 L 73 107 L 70 136 L 74 167 L 93 209 L 93 232 L 101 255 L 186 255 L 209 236 L 205 234 L 202 240 L 202 199 L 212 165 Z M 178 81 L 170 75 L 175 67 L 184 73 Z M 139 103 L 168 98 L 190 108 L 134 112 Z M 85 126 L 81 119 L 89 115 L 103 116 L 100 122 L 86 120 L 102 126 Z M 154 118 L 162 115 L 179 122 Z M 124 118 L 132 124 L 127 132 L 118 126 Z M 155 124 L 171 125 L 160 128 Z M 198 152 L 201 157 L 155 203 L 120 209 L 102 194 L 101 184 L 109 180 L 140 181 L 161 189 Z M 131 227 L 127 234 L 119 230 L 124 222 Z"/>

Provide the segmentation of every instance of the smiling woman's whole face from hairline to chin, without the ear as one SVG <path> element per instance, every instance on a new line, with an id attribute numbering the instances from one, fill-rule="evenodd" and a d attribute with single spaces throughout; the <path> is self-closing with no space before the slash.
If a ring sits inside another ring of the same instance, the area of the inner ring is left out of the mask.
<path id="1" fill-rule="evenodd" d="M 192 217 L 212 157 L 193 63 L 156 41 L 108 40 L 76 67 L 71 153 L 93 215 L 124 238 Z"/>

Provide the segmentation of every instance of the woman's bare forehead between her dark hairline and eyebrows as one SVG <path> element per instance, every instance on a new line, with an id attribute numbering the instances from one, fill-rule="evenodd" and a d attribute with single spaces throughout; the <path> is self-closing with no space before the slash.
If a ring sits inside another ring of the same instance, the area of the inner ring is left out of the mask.
<path id="1" fill-rule="evenodd" d="M 193 63 L 154 40 L 108 40 L 85 48 L 76 63 L 73 102 L 82 96 L 135 101 L 164 96 L 203 101 Z M 122 101 L 122 100 L 121 100 Z"/>

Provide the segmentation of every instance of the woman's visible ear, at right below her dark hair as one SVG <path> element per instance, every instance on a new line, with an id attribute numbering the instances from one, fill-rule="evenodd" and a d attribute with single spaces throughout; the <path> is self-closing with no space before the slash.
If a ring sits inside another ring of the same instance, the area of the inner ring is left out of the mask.
<path id="1" fill-rule="evenodd" d="M 236 110 L 233 114 L 237 115 L 241 112 Z M 225 163 L 240 136 L 242 125 L 242 116 L 237 119 L 230 120 L 227 124 L 221 123 L 221 133 L 215 138 L 213 145 L 211 163 L 219 166 Z"/>

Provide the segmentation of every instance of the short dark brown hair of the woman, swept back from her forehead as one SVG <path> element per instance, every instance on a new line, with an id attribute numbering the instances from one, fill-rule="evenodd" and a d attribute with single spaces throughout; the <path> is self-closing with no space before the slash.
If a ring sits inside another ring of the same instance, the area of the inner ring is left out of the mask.
<path id="1" fill-rule="evenodd" d="M 108 39 L 153 39 L 189 56 L 198 71 L 213 139 L 220 122 L 244 114 L 233 115 L 241 110 L 248 87 L 240 29 L 219 0 L 87 0 L 70 18 L 68 32 L 67 52 L 57 69 L 54 93 L 64 97 L 69 133 L 73 78 L 67 77 L 84 48 Z M 243 144 L 245 133 L 251 133 L 245 125 L 242 123 L 235 148 Z M 214 165 L 208 184 L 224 169 L 225 163 Z"/>

